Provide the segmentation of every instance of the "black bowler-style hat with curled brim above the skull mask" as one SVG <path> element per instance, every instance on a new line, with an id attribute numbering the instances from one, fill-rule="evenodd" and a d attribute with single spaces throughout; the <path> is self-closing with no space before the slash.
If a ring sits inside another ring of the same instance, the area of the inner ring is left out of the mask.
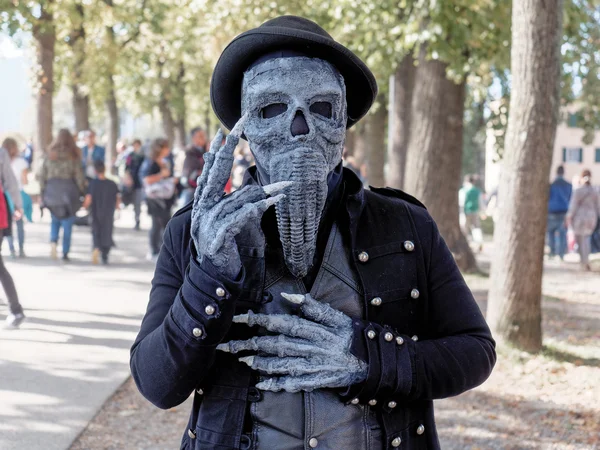
<path id="1" fill-rule="evenodd" d="M 377 82 L 365 63 L 316 23 L 302 17 L 281 16 L 240 34 L 217 61 L 210 100 L 227 128 L 231 130 L 242 115 L 242 79 L 246 69 L 261 56 L 281 49 L 323 59 L 340 71 L 346 83 L 346 128 L 367 113 L 377 95 Z"/>

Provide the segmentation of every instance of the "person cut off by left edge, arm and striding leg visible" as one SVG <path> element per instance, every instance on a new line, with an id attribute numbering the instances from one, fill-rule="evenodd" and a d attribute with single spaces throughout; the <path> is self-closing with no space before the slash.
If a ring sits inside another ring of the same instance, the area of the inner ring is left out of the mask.
<path id="1" fill-rule="evenodd" d="M 11 213 L 6 201 L 5 195 L 9 195 L 15 206 L 14 219 L 19 220 L 22 217 L 22 201 L 21 194 L 19 193 L 19 185 L 15 179 L 15 175 L 10 165 L 10 157 L 6 146 L 12 144 L 14 140 L 5 139 L 0 149 L 0 247 L 2 246 L 2 238 L 5 234 L 9 233 L 11 226 Z M 14 142 L 16 144 L 16 142 Z M 6 194 L 5 194 L 6 193 Z M 19 296 L 17 295 L 17 289 L 15 288 L 15 282 L 13 281 L 8 269 L 4 265 L 2 254 L 0 253 L 0 283 L 8 300 L 8 307 L 10 314 L 6 318 L 7 328 L 17 328 L 21 322 L 25 319 L 23 314 L 23 307 L 19 303 Z"/>

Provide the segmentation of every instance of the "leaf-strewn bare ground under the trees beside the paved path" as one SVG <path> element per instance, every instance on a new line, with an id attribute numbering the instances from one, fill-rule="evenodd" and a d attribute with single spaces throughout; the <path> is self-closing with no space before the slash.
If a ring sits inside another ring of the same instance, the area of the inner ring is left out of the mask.
<path id="1" fill-rule="evenodd" d="M 546 263 L 544 352 L 501 350 L 483 386 L 437 401 L 444 450 L 600 449 L 600 260 L 594 264 L 595 273 L 581 274 L 574 260 Z M 467 282 L 485 310 L 488 278 Z M 71 450 L 179 448 L 190 406 L 161 411 L 129 380 Z"/>

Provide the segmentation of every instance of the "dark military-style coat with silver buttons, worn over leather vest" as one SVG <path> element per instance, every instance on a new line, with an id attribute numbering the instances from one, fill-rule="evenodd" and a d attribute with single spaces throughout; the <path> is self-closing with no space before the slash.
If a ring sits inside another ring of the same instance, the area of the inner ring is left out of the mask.
<path id="1" fill-rule="evenodd" d="M 287 279 L 269 246 L 241 246 L 244 273 L 220 279 L 190 245 L 191 206 L 171 220 L 131 371 L 140 392 L 161 408 L 195 390 L 183 449 L 309 450 L 314 437 L 317 449 L 362 450 L 378 448 L 367 436 L 376 440 L 378 425 L 382 448 L 439 449 L 432 400 L 489 375 L 494 341 L 427 211 L 399 191 L 363 190 L 349 171 L 344 181 L 348 194 L 337 219 L 346 216 L 339 226 L 346 257 L 336 256 L 337 238 L 330 239 L 333 251 L 325 252 L 312 288 L 318 300 L 356 317 L 351 351 L 368 362 L 369 373 L 347 390 L 271 396 L 254 387 L 257 373 L 240 355 L 215 351 L 221 342 L 256 335 L 231 324 L 234 314 L 277 308 L 271 295 L 302 292 L 302 285 Z M 216 313 L 207 315 L 206 305 Z M 354 441 L 346 444 L 349 437 Z"/>

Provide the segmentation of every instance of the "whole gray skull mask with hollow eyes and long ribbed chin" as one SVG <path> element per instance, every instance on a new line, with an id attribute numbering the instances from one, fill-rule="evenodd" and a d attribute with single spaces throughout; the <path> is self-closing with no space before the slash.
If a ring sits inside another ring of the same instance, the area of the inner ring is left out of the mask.
<path id="1" fill-rule="evenodd" d="M 286 265 L 296 277 L 312 266 L 327 199 L 327 175 L 342 159 L 346 87 L 328 62 L 275 58 L 244 73 L 244 133 L 262 184 L 293 181 L 276 205 Z"/>

